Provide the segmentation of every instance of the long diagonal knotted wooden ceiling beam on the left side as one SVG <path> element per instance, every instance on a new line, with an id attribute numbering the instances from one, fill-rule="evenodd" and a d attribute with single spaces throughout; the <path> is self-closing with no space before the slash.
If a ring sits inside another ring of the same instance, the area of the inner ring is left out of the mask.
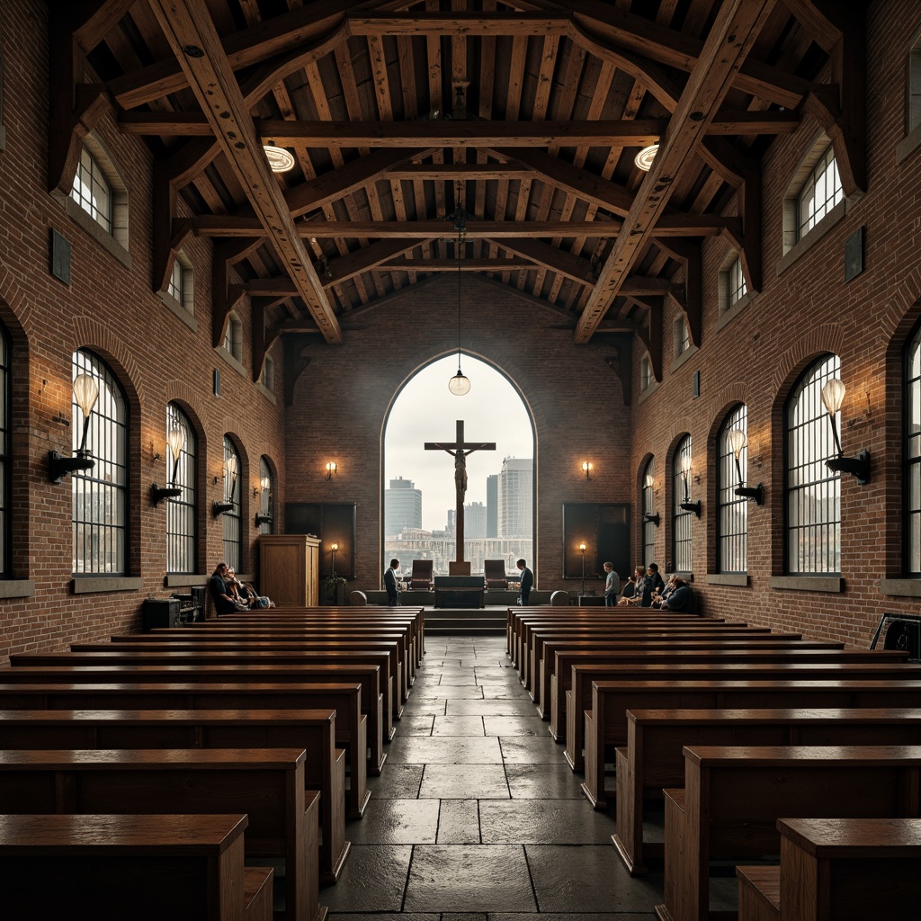
<path id="1" fill-rule="evenodd" d="M 296 282 L 300 297 L 327 341 L 342 342 L 339 321 L 297 235 L 278 182 L 262 155 L 251 115 L 205 0 L 189 0 L 184 5 L 150 0 L 150 6 L 272 240 L 279 261 Z"/>

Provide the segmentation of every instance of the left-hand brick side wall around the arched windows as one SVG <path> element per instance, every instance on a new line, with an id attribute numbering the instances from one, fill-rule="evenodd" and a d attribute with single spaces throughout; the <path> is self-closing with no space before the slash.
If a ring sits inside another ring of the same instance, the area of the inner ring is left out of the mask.
<path id="1" fill-rule="evenodd" d="M 251 544 L 258 498 L 259 459 L 269 456 L 279 471 L 276 500 L 284 502 L 284 399 L 280 386 L 272 402 L 252 382 L 250 308 L 238 306 L 243 321 L 241 375 L 211 347 L 211 247 L 191 239 L 184 251 L 195 272 L 197 329 L 181 321 L 151 290 L 151 169 L 149 150 L 118 132 L 111 116 L 97 134 L 115 161 L 129 192 L 129 270 L 67 216 L 47 192 L 48 77 L 44 4 L 5 3 L 0 17 L 4 65 L 6 151 L 0 154 L 0 319 L 13 345 L 13 567 L 14 577 L 35 582 L 30 599 L 0 602 L 0 660 L 12 651 L 57 649 L 106 637 L 139 624 L 141 603 L 165 597 L 166 511 L 150 501 L 150 486 L 166 475 L 166 404 L 181 403 L 198 435 L 204 459 L 198 483 L 201 535 L 197 571 L 210 572 L 222 554 L 221 521 L 211 503 L 222 494 L 214 483 L 222 465 L 222 438 L 233 435 L 242 457 L 244 569 L 254 565 Z M 72 283 L 64 286 L 48 271 L 49 230 L 72 245 Z M 49 449 L 70 451 L 71 354 L 87 347 L 115 371 L 127 395 L 129 447 L 129 575 L 141 577 L 139 591 L 74 595 L 71 592 L 71 488 L 48 482 Z M 282 350 L 272 352 L 279 380 Z M 220 368 L 222 396 L 212 394 L 212 373 Z M 153 455 L 159 453 L 160 461 Z"/>

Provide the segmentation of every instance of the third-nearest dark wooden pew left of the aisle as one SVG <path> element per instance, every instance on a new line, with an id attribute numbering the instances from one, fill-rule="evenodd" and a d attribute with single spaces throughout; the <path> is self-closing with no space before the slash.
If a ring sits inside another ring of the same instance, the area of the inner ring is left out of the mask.
<path id="1" fill-rule="evenodd" d="M 345 752 L 334 710 L 0 710 L 0 749 L 303 748 L 304 783 L 320 791 L 320 879 L 348 857 Z"/>

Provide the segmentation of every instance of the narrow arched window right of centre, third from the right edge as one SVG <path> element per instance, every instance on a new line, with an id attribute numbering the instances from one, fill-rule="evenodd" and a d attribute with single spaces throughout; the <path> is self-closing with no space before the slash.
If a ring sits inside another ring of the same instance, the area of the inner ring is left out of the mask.
<path id="1" fill-rule="evenodd" d="M 739 452 L 739 468 L 730 432 L 741 432 L 746 444 Z M 717 572 L 748 571 L 748 499 L 736 495 L 736 486 L 748 477 L 748 411 L 740 403 L 723 422 L 717 436 Z"/>

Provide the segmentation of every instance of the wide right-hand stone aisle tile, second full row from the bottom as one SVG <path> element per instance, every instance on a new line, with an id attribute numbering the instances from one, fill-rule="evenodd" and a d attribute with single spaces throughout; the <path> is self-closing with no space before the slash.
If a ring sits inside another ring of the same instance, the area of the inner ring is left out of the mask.
<path id="1" fill-rule="evenodd" d="M 585 799 L 517 799 L 480 803 L 480 831 L 484 844 L 611 845 L 616 826 Z"/>

